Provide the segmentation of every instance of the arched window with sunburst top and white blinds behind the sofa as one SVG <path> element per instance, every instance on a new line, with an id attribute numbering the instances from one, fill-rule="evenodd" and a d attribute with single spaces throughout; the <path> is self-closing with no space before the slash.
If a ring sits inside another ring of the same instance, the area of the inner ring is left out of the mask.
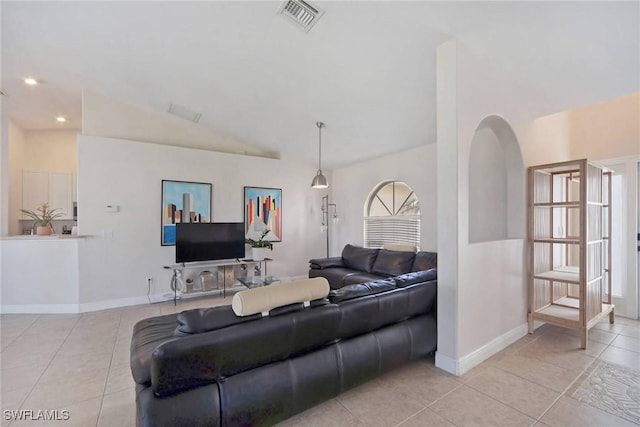
<path id="1" fill-rule="evenodd" d="M 401 181 L 385 181 L 371 191 L 364 207 L 364 246 L 387 244 L 420 249 L 420 201 Z"/>

